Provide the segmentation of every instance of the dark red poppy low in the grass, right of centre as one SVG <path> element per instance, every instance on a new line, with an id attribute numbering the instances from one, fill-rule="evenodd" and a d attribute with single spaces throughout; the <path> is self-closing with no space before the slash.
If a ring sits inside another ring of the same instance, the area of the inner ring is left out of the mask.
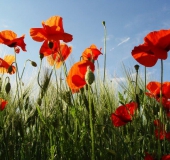
<path id="1" fill-rule="evenodd" d="M 137 109 L 137 103 L 131 102 L 123 106 L 119 106 L 114 113 L 111 114 L 111 120 L 115 127 L 120 127 L 132 121 L 132 116 Z"/>

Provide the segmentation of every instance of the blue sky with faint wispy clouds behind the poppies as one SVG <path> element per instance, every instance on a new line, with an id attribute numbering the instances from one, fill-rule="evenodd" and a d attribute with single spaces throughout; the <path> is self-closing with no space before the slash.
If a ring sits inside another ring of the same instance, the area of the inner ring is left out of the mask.
<path id="1" fill-rule="evenodd" d="M 63 17 L 64 30 L 73 35 L 69 43 L 73 52 L 68 62 L 79 61 L 85 48 L 95 44 L 104 51 L 104 29 L 107 28 L 107 71 L 114 77 L 122 77 L 122 63 L 132 68 L 137 62 L 131 56 L 134 46 L 143 43 L 151 31 L 170 28 L 170 3 L 158 0 L 36 0 L 1 1 L 0 31 L 12 30 L 18 37 L 25 34 L 27 52 L 17 55 L 17 62 L 23 68 L 27 59 L 39 60 L 42 43 L 33 41 L 30 28 L 41 27 L 41 22 L 51 16 Z M 0 45 L 0 55 L 13 54 L 13 50 Z M 103 68 L 104 56 L 98 58 Z M 69 66 L 68 66 L 69 68 Z M 164 61 L 164 81 L 170 79 L 170 58 Z M 144 67 L 140 66 L 140 71 Z M 160 80 L 160 62 L 147 69 L 151 80 Z M 29 74 L 29 73 L 27 73 Z"/>

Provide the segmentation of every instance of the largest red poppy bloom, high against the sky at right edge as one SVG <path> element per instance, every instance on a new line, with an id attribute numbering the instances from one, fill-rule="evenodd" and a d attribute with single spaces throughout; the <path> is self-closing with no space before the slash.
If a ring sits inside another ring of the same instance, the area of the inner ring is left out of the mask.
<path id="1" fill-rule="evenodd" d="M 167 59 L 170 50 L 170 30 L 150 32 L 144 38 L 144 43 L 132 50 L 132 56 L 140 64 L 152 67 L 158 59 Z"/>

